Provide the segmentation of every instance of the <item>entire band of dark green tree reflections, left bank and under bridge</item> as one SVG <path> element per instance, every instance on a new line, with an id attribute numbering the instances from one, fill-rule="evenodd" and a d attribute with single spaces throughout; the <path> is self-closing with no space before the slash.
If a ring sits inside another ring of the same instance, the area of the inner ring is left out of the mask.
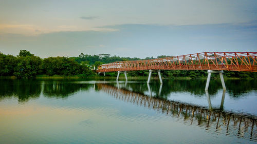
<path id="1" fill-rule="evenodd" d="M 77 81 L 65 80 L 12 80 L 0 79 L 0 100 L 2 98 L 17 97 L 20 102 L 26 102 L 29 99 L 38 98 L 43 92 L 44 96 L 55 98 L 66 98 L 74 93 L 83 90 L 86 91 L 93 84 L 89 85 L 83 83 L 75 83 Z M 252 90 L 257 90 L 257 80 L 226 80 L 227 92 L 233 99 L 238 99 L 245 96 Z M 159 81 L 153 80 L 152 83 L 110 83 L 109 85 L 118 88 L 125 88 L 136 93 L 145 94 L 148 92 L 149 96 L 154 96 L 160 99 L 168 99 L 172 92 L 189 92 L 197 97 L 205 97 L 205 83 L 206 80 L 163 80 L 163 85 Z M 94 88 L 98 91 L 97 88 Z M 209 95 L 216 95 L 218 90 L 221 89 L 217 85 L 217 81 L 212 80 L 209 86 Z"/>

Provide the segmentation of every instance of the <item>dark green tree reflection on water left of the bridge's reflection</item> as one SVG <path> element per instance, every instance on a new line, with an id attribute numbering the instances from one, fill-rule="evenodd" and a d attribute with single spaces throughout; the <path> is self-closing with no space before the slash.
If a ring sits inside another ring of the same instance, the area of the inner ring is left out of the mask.
<path id="1" fill-rule="evenodd" d="M 93 85 L 72 83 L 72 81 L 0 79 L 0 100 L 17 97 L 19 102 L 39 98 L 41 92 L 46 97 L 66 98 L 77 91 L 86 91 Z"/>

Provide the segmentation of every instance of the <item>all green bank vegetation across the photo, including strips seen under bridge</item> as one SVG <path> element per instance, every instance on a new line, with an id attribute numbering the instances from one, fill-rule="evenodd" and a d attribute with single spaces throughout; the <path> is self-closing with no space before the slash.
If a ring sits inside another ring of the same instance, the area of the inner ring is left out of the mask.
<path id="1" fill-rule="evenodd" d="M 157 58 L 168 57 L 167 55 Z M 144 59 L 153 59 L 146 57 Z M 78 57 L 48 57 L 40 58 L 27 50 L 21 50 L 19 55 L 5 55 L 0 52 L 0 76 L 17 78 L 101 78 L 96 75 L 94 67 L 124 60 L 140 60 L 134 57 L 111 56 L 109 54 L 88 55 L 81 53 Z M 163 78 L 206 78 L 207 71 L 202 70 L 170 70 L 162 71 Z M 131 78 L 147 77 L 149 71 L 129 71 Z M 107 77 L 116 77 L 117 72 L 106 73 Z M 157 74 L 153 73 L 153 76 Z M 224 76 L 230 78 L 257 78 L 256 73 L 224 71 Z M 212 77 L 216 77 L 212 74 Z"/>

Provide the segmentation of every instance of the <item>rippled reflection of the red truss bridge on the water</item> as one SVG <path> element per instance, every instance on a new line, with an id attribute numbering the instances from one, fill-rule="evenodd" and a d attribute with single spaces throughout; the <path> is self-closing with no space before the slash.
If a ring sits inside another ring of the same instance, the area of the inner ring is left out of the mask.
<path id="1" fill-rule="evenodd" d="M 211 107 L 208 91 L 206 95 L 208 97 L 209 109 L 147 96 L 108 84 L 96 85 L 98 90 L 102 90 L 114 98 L 172 116 L 172 118 L 177 118 L 177 121 L 183 122 L 185 125 L 199 126 L 210 133 L 226 134 L 228 136 L 237 136 L 257 141 L 257 122 L 255 116 L 223 111 L 225 91 L 221 100 L 221 109 L 215 110 Z"/>

